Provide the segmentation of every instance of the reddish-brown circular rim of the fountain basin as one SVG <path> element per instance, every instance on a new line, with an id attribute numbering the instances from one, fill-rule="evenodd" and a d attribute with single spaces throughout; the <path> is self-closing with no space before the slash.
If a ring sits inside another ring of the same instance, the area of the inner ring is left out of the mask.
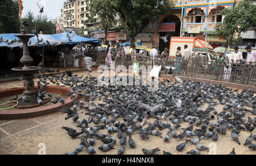
<path id="1" fill-rule="evenodd" d="M 38 87 L 35 87 L 38 90 Z M 49 93 L 61 93 L 68 97 L 69 92 L 72 90 L 71 88 L 65 88 L 60 86 L 47 86 L 45 91 Z M 0 98 L 7 97 L 7 96 L 14 96 L 15 94 L 22 94 L 24 88 L 13 88 L 0 91 Z M 42 115 L 47 115 L 51 113 L 55 113 L 62 109 L 63 106 L 70 107 L 73 105 L 74 101 L 77 99 L 77 96 L 73 99 L 68 97 L 65 102 L 56 103 L 54 105 L 47 105 L 44 107 L 39 107 L 35 109 L 22 109 L 22 110 L 0 110 L 0 120 L 7 120 L 7 119 L 26 119 L 32 117 L 40 117 Z"/>

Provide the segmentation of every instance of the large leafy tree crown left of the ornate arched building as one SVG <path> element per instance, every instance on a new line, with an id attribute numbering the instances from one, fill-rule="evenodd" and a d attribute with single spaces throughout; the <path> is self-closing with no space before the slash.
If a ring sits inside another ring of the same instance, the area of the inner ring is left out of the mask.
<path id="1" fill-rule="evenodd" d="M 123 30 L 135 42 L 135 37 L 155 21 L 156 16 L 167 14 L 172 1 L 167 0 L 105 0 L 110 8 L 117 11 Z"/>

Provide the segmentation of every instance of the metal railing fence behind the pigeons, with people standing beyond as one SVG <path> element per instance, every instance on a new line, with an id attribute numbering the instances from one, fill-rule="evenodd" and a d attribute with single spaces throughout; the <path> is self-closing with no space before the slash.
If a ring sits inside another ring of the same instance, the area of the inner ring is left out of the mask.
<path id="1" fill-rule="evenodd" d="M 115 67 L 123 65 L 129 69 L 134 61 L 131 55 L 121 55 L 115 58 L 113 53 L 112 59 L 115 60 Z M 97 66 L 106 65 L 106 55 L 104 52 L 97 52 Z M 151 59 L 150 56 L 142 56 L 137 54 L 136 61 L 140 66 L 162 65 L 160 74 L 167 74 L 168 70 L 164 66 L 175 67 L 173 75 L 181 77 L 202 78 L 207 80 L 215 80 L 222 82 L 232 82 L 243 85 L 256 86 L 256 70 L 255 65 L 224 63 L 220 60 L 208 60 L 207 58 L 194 57 L 184 60 L 181 57 L 163 59 Z"/>

